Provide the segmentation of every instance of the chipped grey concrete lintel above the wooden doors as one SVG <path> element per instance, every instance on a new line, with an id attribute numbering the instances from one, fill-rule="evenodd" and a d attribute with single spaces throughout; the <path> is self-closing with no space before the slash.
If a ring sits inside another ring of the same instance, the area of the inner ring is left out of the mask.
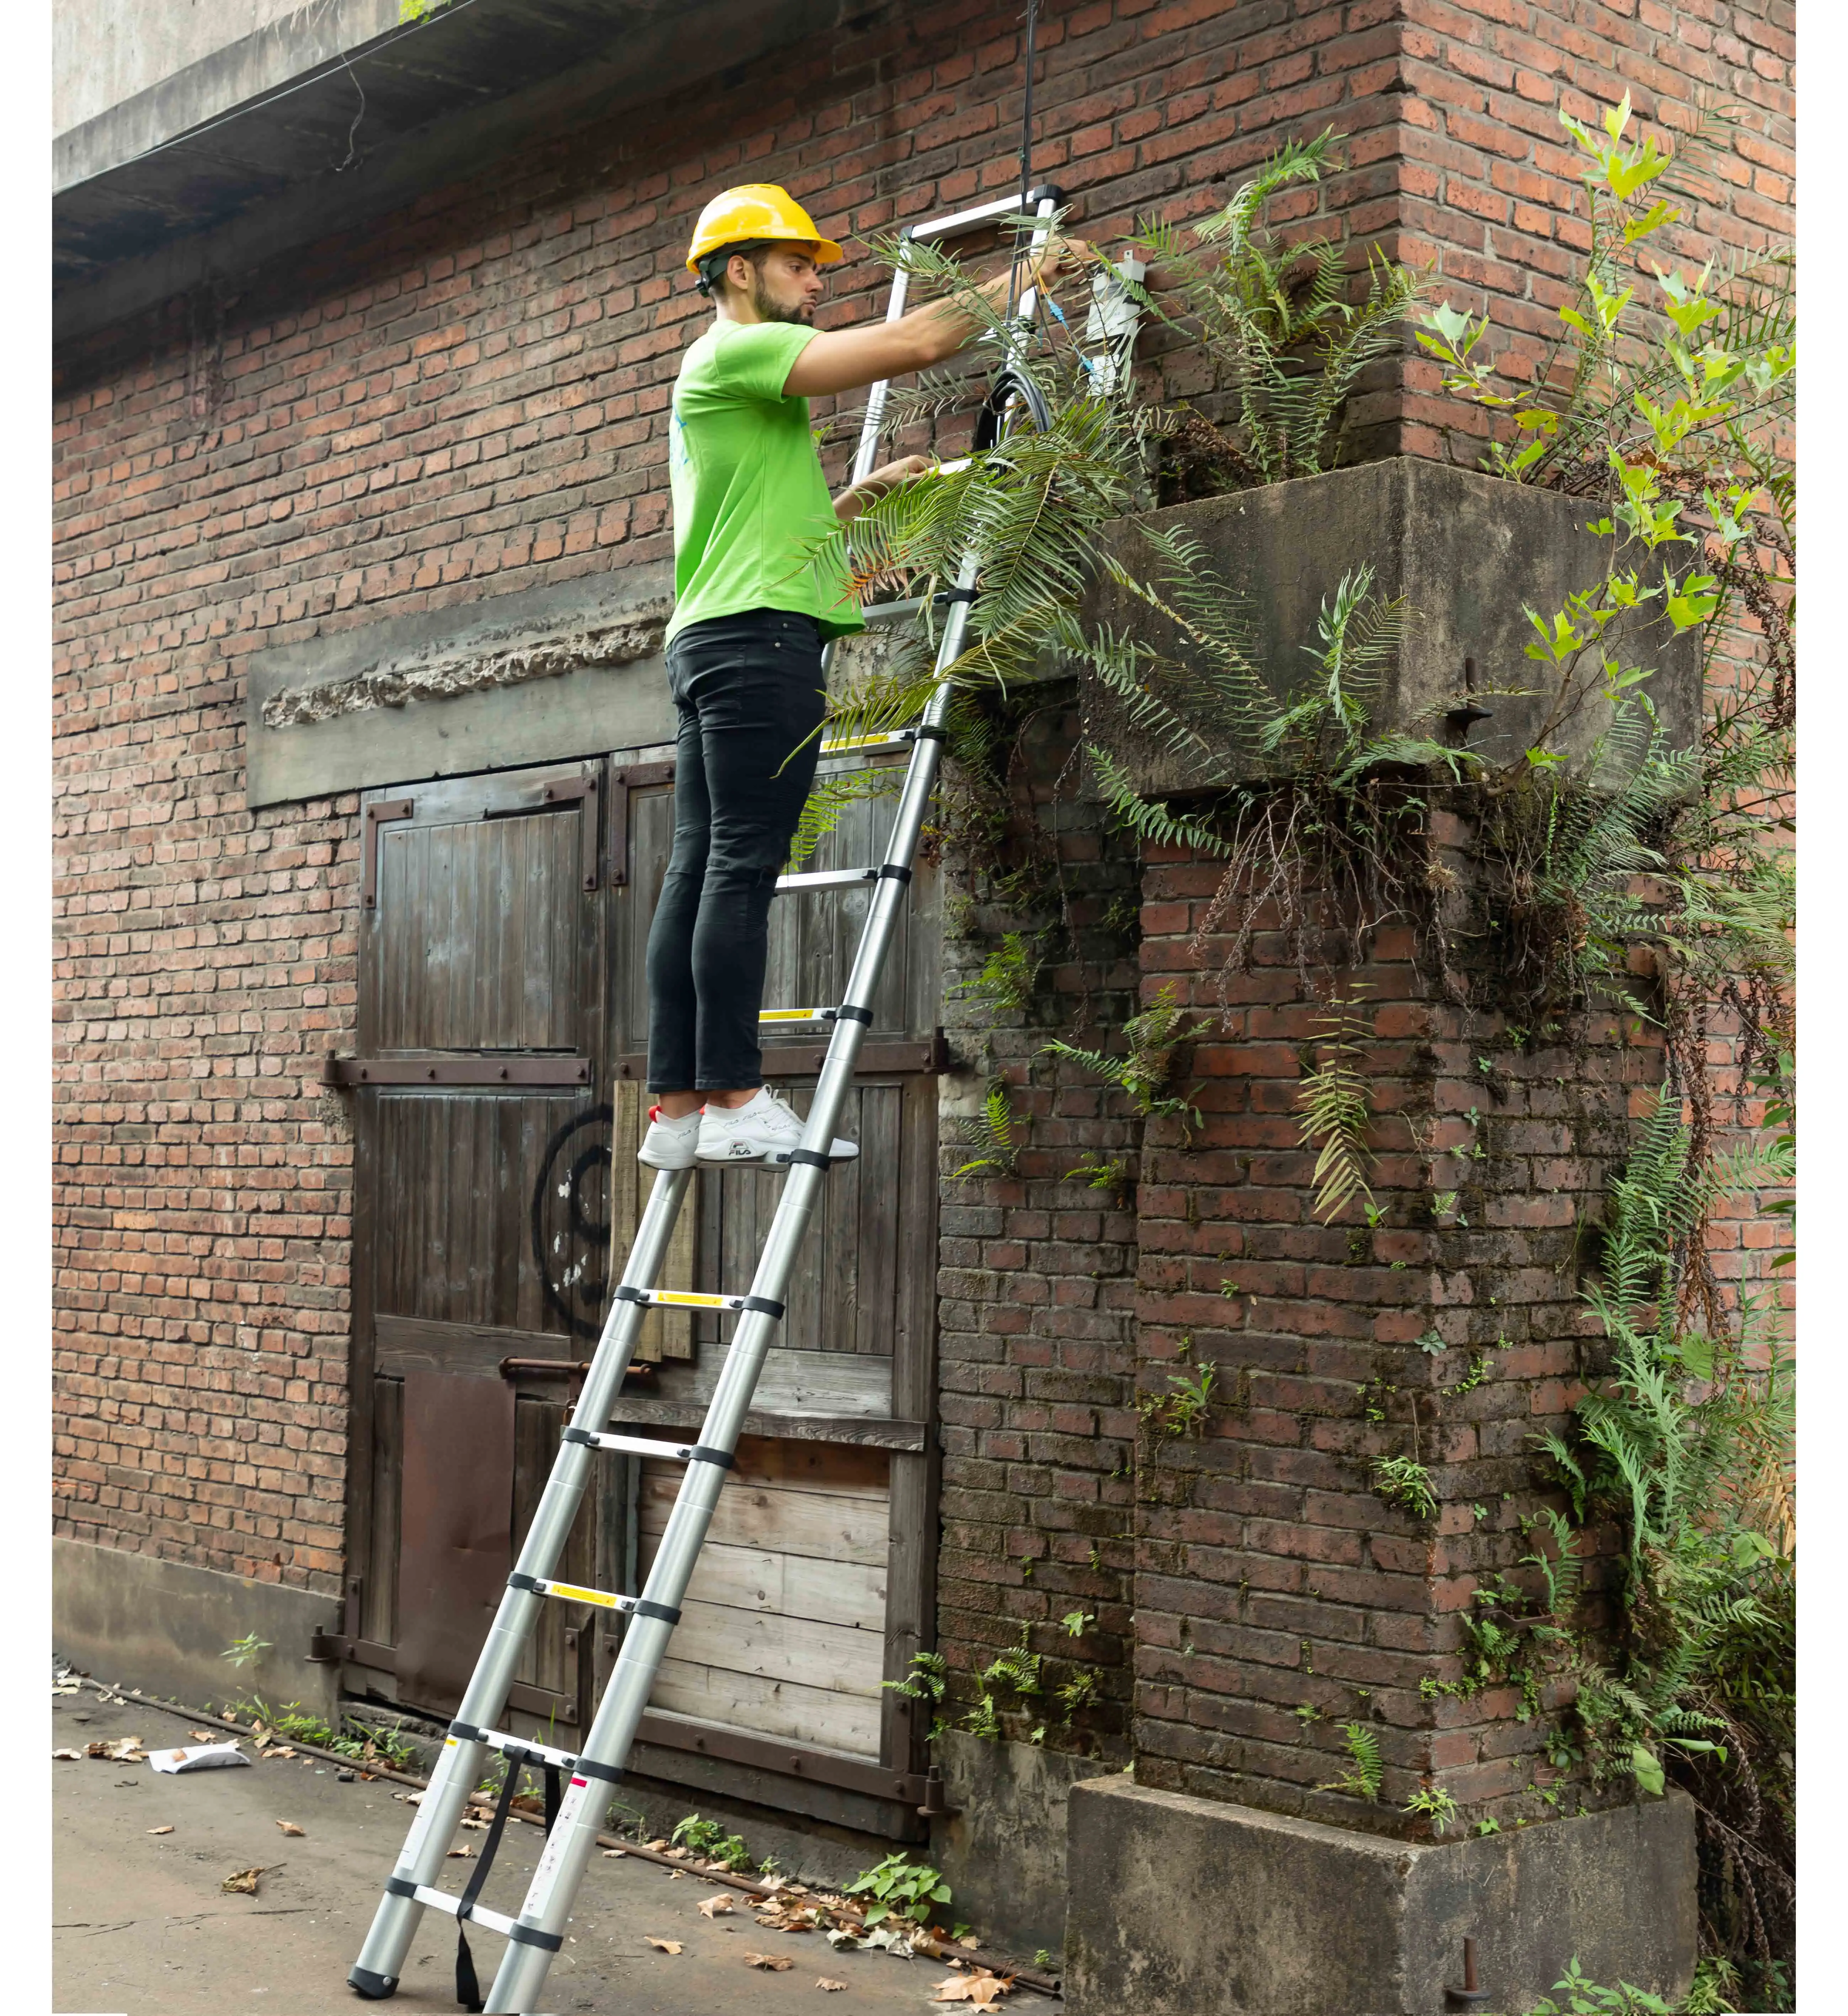
<path id="1" fill-rule="evenodd" d="M 671 742 L 663 562 L 260 651 L 252 806 Z"/>

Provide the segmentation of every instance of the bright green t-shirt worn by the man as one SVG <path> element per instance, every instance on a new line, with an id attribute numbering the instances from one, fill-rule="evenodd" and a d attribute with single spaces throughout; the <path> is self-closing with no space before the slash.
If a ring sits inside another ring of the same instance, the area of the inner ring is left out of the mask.
<path id="1" fill-rule="evenodd" d="M 794 609 L 822 637 L 865 629 L 808 431 L 808 401 L 784 397 L 812 329 L 715 323 L 673 383 L 673 621 L 667 635 L 744 609 Z"/>

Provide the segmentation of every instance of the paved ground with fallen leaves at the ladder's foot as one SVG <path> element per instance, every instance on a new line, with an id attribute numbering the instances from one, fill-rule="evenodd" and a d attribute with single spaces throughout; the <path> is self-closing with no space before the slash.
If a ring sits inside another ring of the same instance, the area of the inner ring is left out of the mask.
<path id="1" fill-rule="evenodd" d="M 115 1708 L 89 1689 L 54 1702 L 54 1750 L 123 1736 L 153 1750 L 187 1742 L 185 1724 L 165 1712 Z M 60 2016 L 353 2016 L 367 2004 L 345 1986 L 347 1970 L 411 1818 L 381 1782 L 343 1784 L 333 1764 L 308 1758 L 179 1778 L 145 1762 L 54 1764 L 52 2008 Z M 294 1820 L 302 1835 L 284 1837 L 276 1820 Z M 157 1826 L 173 1833 L 151 1833 Z M 484 1837 L 461 1839 L 478 1845 Z M 508 1829 L 488 1879 L 490 1903 L 518 1907 L 540 1839 L 538 1829 Z M 220 1889 L 256 1865 L 280 1865 L 260 1879 L 256 1897 Z M 766 1931 L 746 1909 L 707 1921 L 697 1907 L 715 1889 L 629 1857 L 592 1861 L 544 2008 L 560 2016 L 915 2012 L 949 1978 L 921 1958 L 834 1951 L 816 1933 Z M 649 1935 L 685 1949 L 661 1954 Z M 486 1988 L 502 1941 L 476 1931 L 470 1945 Z M 764 1974 L 744 1964 L 746 1951 L 784 1951 L 796 1964 Z M 451 1923 L 425 1913 L 391 2008 L 453 2010 L 453 1956 Z M 820 1992 L 822 1976 L 846 1982 L 846 1992 Z M 1062 2008 L 1026 1992 L 1006 2006 L 1026 2016 Z"/>

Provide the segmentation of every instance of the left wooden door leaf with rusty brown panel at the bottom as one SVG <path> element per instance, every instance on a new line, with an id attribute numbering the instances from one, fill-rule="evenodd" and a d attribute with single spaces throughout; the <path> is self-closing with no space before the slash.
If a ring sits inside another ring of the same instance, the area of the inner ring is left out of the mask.
<path id="1" fill-rule="evenodd" d="M 447 1714 L 609 1288 L 603 764 L 363 806 L 347 1655 Z M 595 1512 L 560 1572 L 592 1572 Z M 514 1704 L 586 1710 L 548 1607 Z"/>

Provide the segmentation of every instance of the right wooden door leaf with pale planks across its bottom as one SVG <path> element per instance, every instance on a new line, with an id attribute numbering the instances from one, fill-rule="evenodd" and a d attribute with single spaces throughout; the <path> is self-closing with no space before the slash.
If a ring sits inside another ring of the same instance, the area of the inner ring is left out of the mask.
<path id="1" fill-rule="evenodd" d="M 625 1097 L 647 1070 L 643 952 L 673 829 L 665 762 L 611 764 L 623 863 L 613 899 L 613 1068 L 619 1155 Z M 881 859 L 893 800 L 846 808 L 814 867 Z M 782 1337 L 758 1385 L 740 1464 L 653 1693 L 637 1768 L 685 1784 L 917 1833 L 923 1728 L 901 1679 L 927 1645 L 935 1558 L 937 1085 L 941 1038 L 937 877 L 913 883 L 861 1050 L 840 1131 L 859 1161 L 828 1175 L 788 1292 Z M 869 893 L 778 897 L 766 1008 L 836 1002 Z M 826 1030 L 766 1042 L 766 1077 L 806 1111 Z M 782 1177 L 701 1171 L 695 1278 L 750 1286 Z M 699 1318 L 687 1357 L 625 1397 L 635 1423 L 691 1427 L 711 1395 L 730 1318 Z M 635 1572 L 645 1574 L 679 1468 L 641 1464 Z M 639 1587 L 639 1581 L 633 1585 Z"/>

